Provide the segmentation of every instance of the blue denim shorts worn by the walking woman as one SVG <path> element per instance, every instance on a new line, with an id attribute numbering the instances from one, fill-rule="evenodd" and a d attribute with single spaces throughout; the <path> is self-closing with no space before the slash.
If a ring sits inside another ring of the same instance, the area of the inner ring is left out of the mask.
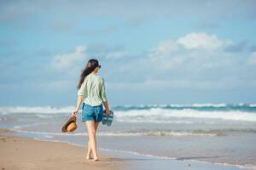
<path id="1" fill-rule="evenodd" d="M 103 116 L 103 106 L 91 106 L 83 102 L 82 105 L 82 121 L 101 122 Z"/>

